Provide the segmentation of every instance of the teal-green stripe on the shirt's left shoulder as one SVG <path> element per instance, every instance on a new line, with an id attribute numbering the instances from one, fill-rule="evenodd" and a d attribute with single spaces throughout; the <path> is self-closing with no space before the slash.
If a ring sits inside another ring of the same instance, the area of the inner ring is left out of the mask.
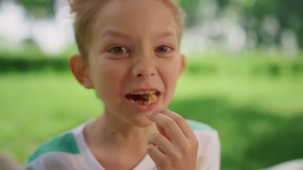
<path id="1" fill-rule="evenodd" d="M 64 152 L 69 154 L 80 154 L 78 145 L 74 139 L 72 133 L 65 133 L 58 137 L 55 137 L 44 144 L 42 144 L 37 150 L 29 157 L 28 163 L 35 160 L 40 155 L 47 152 Z"/>

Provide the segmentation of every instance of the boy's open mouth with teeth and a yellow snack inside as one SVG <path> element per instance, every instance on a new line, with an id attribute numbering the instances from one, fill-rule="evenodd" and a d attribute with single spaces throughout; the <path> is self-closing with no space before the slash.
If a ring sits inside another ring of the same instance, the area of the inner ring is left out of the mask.
<path id="1" fill-rule="evenodd" d="M 157 90 L 142 90 L 127 94 L 125 98 L 140 105 L 149 105 L 157 102 L 159 96 L 160 92 Z"/>

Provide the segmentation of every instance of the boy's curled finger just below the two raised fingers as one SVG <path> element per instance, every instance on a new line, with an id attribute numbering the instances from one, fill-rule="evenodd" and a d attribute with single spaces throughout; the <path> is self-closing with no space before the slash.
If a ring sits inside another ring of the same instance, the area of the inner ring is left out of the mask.
<path id="1" fill-rule="evenodd" d="M 160 133 L 154 133 L 148 136 L 147 139 L 148 144 L 154 144 L 158 146 L 159 150 L 164 153 L 165 155 L 172 155 L 174 152 L 174 145 L 172 142 L 167 140 L 163 135 Z"/>

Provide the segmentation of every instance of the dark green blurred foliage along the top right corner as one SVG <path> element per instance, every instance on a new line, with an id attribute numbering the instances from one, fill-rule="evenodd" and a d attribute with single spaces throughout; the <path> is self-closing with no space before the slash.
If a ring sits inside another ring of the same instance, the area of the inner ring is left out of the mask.
<path id="1" fill-rule="evenodd" d="M 200 22 L 201 16 L 197 15 L 199 4 L 208 0 L 179 0 L 187 14 L 187 27 L 192 27 Z M 217 15 L 224 15 L 226 8 L 232 8 L 240 18 L 239 22 L 247 31 L 255 31 L 259 42 L 267 45 L 268 36 L 264 35 L 261 27 L 264 19 L 270 16 L 279 22 L 278 33 L 273 37 L 277 42 L 283 30 L 290 29 L 297 36 L 298 44 L 303 47 L 303 1 L 301 0 L 216 0 L 220 10 Z"/>

